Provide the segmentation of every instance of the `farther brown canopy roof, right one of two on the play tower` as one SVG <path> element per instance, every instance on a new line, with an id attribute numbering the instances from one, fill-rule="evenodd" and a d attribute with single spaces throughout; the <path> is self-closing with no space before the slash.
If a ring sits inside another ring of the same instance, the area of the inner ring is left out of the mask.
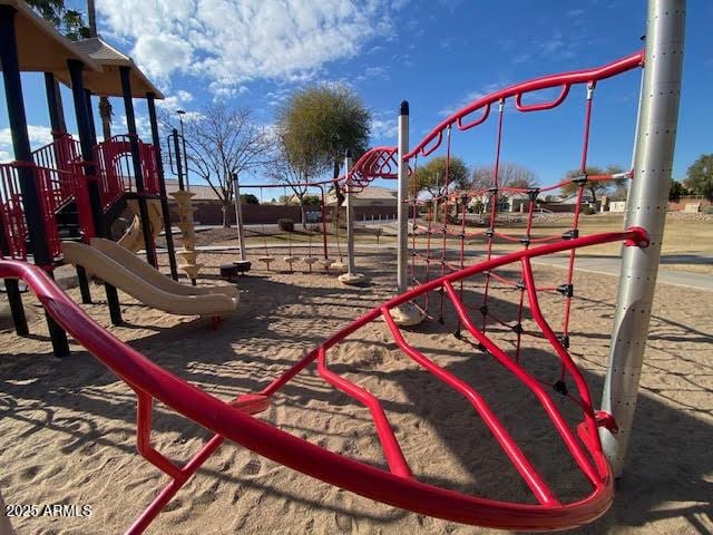
<path id="1" fill-rule="evenodd" d="M 130 67 L 131 96 L 146 98 L 147 93 L 153 93 L 157 99 L 164 95 L 141 72 L 134 60 L 108 45 L 100 37 L 84 39 L 75 43 L 77 48 L 101 66 L 101 72 L 87 71 L 84 76 L 85 88 L 100 97 L 123 97 L 121 78 L 119 67 Z M 58 78 L 69 85 L 69 76 Z"/>

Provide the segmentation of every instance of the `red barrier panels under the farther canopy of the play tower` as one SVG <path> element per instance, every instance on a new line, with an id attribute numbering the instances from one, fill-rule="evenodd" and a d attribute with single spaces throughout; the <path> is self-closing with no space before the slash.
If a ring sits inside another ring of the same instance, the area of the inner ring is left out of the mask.
<path id="1" fill-rule="evenodd" d="M 156 149 L 153 145 L 138 142 L 144 178 L 144 192 L 157 194 L 158 173 Z M 97 181 L 101 208 L 106 212 L 127 192 L 136 192 L 136 176 L 131 157 L 131 143 L 128 135 L 111 137 L 108 142 L 94 147 Z"/>

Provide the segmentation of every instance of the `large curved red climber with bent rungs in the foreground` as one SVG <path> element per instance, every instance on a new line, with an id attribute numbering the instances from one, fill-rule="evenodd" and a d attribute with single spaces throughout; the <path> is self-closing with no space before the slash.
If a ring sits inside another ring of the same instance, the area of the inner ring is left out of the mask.
<path id="1" fill-rule="evenodd" d="M 146 529 L 160 509 L 224 439 L 233 440 L 276 463 L 323 481 L 419 514 L 505 529 L 565 529 L 594 521 L 603 515 L 612 503 L 614 480 L 608 463 L 602 451 L 597 428 L 603 426 L 613 428 L 614 422 L 609 415 L 594 410 L 592 398 L 582 373 L 544 319 L 536 298 L 529 260 L 545 254 L 617 241 L 626 241 L 627 245 L 635 246 L 646 246 L 648 244 L 646 232 L 642 228 L 633 227 L 625 232 L 576 237 L 555 244 L 518 251 L 430 281 L 391 299 L 382 307 L 371 310 L 350 323 L 324 343 L 310 351 L 302 360 L 287 369 L 260 393 L 242 396 L 231 402 L 222 401 L 206 391 L 183 381 L 116 339 L 75 304 L 46 273 L 35 266 L 17 261 L 0 260 L 0 278 L 23 279 L 38 295 L 47 312 L 137 393 L 139 401 L 137 446 L 139 453 L 165 471 L 172 480 L 158 494 L 141 517 L 129 528 L 128 533 L 141 533 Z M 494 340 L 478 330 L 470 318 L 467 307 L 453 288 L 456 282 L 463 279 L 515 262 L 522 264 L 527 276 L 533 318 L 553 347 L 556 357 L 572 376 L 578 391 L 577 406 L 582 409 L 583 424 L 577 428 L 577 434 L 570 429 L 560 415 L 557 405 L 543 388 L 541 383 L 518 362 L 509 358 Z M 420 295 L 437 290 L 442 290 L 448 295 L 468 332 L 482 343 L 498 362 L 511 371 L 517 379 L 533 391 L 548 418 L 553 421 L 555 429 L 560 435 L 577 466 L 589 481 L 592 489 L 585 498 L 572 503 L 560 503 L 479 393 L 406 341 L 391 319 L 391 311 Z M 326 356 L 331 348 L 338 346 L 367 324 L 381 319 L 385 320 L 397 346 L 408 357 L 471 402 L 476 412 L 482 418 L 498 444 L 507 453 L 521 477 L 531 488 L 538 500 L 537 505 L 469 496 L 421 483 L 411 475 L 379 400 L 362 387 L 353 385 L 326 368 Z M 334 454 L 251 416 L 254 412 L 264 410 L 268 406 L 268 398 L 315 361 L 318 361 L 318 370 L 324 379 L 369 407 L 389 470 Z M 189 420 L 215 432 L 213 438 L 183 467 L 174 464 L 150 445 L 150 418 L 154 400 L 163 402 Z"/>

